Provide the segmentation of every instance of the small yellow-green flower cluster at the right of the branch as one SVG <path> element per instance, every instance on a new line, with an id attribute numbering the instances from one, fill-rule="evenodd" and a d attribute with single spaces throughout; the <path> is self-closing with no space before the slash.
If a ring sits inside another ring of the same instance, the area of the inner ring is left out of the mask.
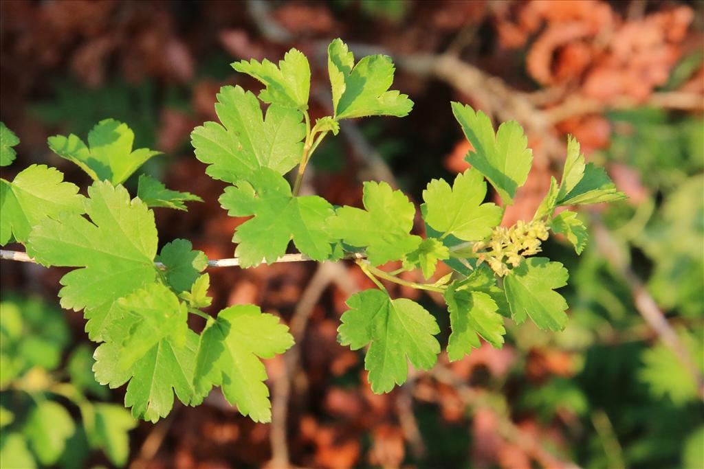
<path id="1" fill-rule="evenodd" d="M 542 220 L 519 220 L 510 228 L 498 226 L 491 239 L 474 244 L 477 265 L 486 262 L 498 276 L 508 274 L 508 265 L 517 267 L 524 257 L 541 252 L 541 242 L 548 239 L 548 227 Z M 482 251 L 483 252 L 480 252 Z"/>

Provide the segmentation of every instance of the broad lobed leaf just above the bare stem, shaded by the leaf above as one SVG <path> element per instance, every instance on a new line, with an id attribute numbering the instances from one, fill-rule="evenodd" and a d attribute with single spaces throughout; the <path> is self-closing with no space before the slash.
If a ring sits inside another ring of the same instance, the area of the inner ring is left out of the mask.
<path id="1" fill-rule="evenodd" d="M 275 262 L 286 253 L 289 240 L 315 260 L 330 256 L 334 239 L 325 231 L 325 220 L 334 212 L 318 195 L 294 197 L 280 174 L 262 168 L 236 187 L 225 188 L 220 205 L 231 217 L 254 217 L 237 226 L 232 240 L 234 254 L 243 267 Z"/>

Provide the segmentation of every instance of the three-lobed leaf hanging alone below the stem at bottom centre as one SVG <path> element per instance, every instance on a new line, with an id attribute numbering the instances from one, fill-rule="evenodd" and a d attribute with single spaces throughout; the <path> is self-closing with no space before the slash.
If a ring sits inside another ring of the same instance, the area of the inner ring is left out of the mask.
<path id="1" fill-rule="evenodd" d="M 358 350 L 370 344 L 365 357 L 372 391 L 389 392 L 406 383 L 407 359 L 419 370 L 431 368 L 440 353 L 433 337 L 440 332 L 435 318 L 420 304 L 391 300 L 381 290 L 365 290 L 347 300 L 350 307 L 337 329 L 341 345 Z"/>

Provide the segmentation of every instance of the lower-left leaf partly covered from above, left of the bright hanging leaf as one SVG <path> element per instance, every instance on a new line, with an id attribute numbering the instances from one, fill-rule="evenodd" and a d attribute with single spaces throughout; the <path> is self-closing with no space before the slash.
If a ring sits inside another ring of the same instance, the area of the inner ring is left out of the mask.
<path id="1" fill-rule="evenodd" d="M 130 368 L 120 368 L 124 348 L 118 342 L 105 342 L 95 351 L 95 378 L 102 385 L 120 387 L 130 381 L 125 394 L 125 406 L 132 406 L 134 418 L 152 423 L 168 415 L 174 401 L 173 393 L 184 404 L 202 401 L 193 387 L 198 335 L 186 329 L 182 344 L 162 338 Z"/>

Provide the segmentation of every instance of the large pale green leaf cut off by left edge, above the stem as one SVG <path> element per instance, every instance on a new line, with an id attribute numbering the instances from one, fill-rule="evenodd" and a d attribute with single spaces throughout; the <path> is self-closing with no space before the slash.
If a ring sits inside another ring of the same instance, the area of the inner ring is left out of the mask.
<path id="1" fill-rule="evenodd" d="M 46 165 L 27 167 L 12 182 L 0 179 L 0 245 L 27 243 L 32 227 L 62 212 L 83 213 L 82 200 L 77 186 Z"/>

